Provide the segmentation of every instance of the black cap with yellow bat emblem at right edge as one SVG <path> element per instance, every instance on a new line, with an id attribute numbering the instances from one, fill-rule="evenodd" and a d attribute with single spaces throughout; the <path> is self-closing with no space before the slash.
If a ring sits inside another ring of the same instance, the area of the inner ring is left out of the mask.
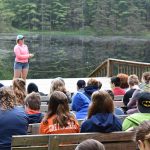
<path id="1" fill-rule="evenodd" d="M 150 93 L 139 93 L 138 109 L 141 113 L 150 113 Z"/>

